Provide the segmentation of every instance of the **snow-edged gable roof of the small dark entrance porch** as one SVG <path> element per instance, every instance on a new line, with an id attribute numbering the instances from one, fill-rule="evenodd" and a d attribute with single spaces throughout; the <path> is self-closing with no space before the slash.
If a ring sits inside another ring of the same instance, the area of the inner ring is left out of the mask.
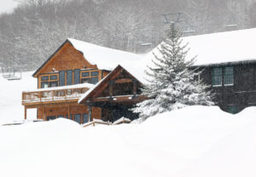
<path id="1" fill-rule="evenodd" d="M 100 82 L 96 83 L 95 86 L 93 86 L 92 88 L 90 88 L 87 92 L 85 92 L 85 93 L 80 97 L 80 99 L 79 99 L 79 101 L 78 101 L 79 104 L 80 104 L 80 103 L 83 103 L 84 100 L 87 100 L 88 98 L 90 98 L 91 96 L 93 96 L 94 94 L 96 94 L 97 89 L 102 88 L 102 86 L 103 86 L 104 84 L 108 83 L 108 81 L 110 81 L 110 80 L 113 79 L 113 78 L 118 77 L 118 76 L 119 76 L 119 75 L 118 75 L 119 71 L 125 71 L 125 72 L 127 72 L 131 77 L 137 79 L 136 77 L 132 76 L 129 71 L 125 70 L 124 67 L 122 67 L 122 66 L 116 66 L 116 67 L 113 69 L 113 71 L 111 71 L 111 72 L 108 74 L 108 76 L 104 77 Z M 137 80 L 137 81 L 138 81 L 138 80 Z M 138 82 L 139 82 L 139 81 L 138 81 Z M 143 83 L 140 83 L 140 82 L 139 82 L 139 84 L 143 84 Z"/>

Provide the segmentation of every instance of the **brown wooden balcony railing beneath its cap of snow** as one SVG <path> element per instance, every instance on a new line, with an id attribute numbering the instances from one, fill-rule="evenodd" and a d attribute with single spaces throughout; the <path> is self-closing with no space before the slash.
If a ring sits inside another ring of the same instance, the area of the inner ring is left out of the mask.
<path id="1" fill-rule="evenodd" d="M 76 100 L 88 88 L 51 89 L 45 91 L 22 92 L 22 103 L 44 102 L 54 100 Z"/>

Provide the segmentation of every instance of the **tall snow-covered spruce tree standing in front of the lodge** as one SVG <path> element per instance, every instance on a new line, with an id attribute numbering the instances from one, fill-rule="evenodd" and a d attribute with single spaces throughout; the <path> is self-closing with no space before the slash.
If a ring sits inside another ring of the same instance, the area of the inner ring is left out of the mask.
<path id="1" fill-rule="evenodd" d="M 141 120 L 184 106 L 212 106 L 209 86 L 195 79 L 200 74 L 193 67 L 195 58 L 186 59 L 188 44 L 183 45 L 181 32 L 172 24 L 166 31 L 166 40 L 154 53 L 153 66 L 148 66 L 148 84 L 143 94 L 148 96 L 133 109 Z"/>

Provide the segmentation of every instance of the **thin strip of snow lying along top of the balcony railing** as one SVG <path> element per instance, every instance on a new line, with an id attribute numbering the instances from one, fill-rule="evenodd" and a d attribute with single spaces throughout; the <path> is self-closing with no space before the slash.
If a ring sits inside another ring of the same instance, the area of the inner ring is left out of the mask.
<path id="1" fill-rule="evenodd" d="M 54 88 L 38 88 L 38 89 L 33 89 L 25 92 L 51 91 L 51 90 L 70 89 L 70 88 L 93 88 L 94 86 L 95 84 L 92 84 L 92 83 L 80 83 L 75 85 L 67 85 L 67 86 L 54 87 Z"/>

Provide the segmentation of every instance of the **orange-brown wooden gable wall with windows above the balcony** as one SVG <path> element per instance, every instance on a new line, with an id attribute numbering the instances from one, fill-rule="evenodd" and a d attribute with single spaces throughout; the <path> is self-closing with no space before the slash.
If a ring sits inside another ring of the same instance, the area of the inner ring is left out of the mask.
<path id="1" fill-rule="evenodd" d="M 91 65 L 84 60 L 84 54 L 74 49 L 71 43 L 65 43 L 35 75 L 38 78 L 38 88 L 42 88 L 42 84 L 48 84 L 48 87 L 60 86 L 60 71 L 64 71 L 64 85 L 83 82 L 96 83 L 109 73 L 109 71 L 98 70 L 96 65 Z M 67 71 L 72 72 L 72 83 L 67 83 Z M 75 71 L 79 71 L 79 82 L 75 82 Z M 98 74 L 92 76 L 95 72 Z M 86 76 L 86 73 L 89 75 Z M 45 77 L 49 77 L 49 79 L 45 80 Z M 50 79 L 51 77 L 54 79 Z"/>

